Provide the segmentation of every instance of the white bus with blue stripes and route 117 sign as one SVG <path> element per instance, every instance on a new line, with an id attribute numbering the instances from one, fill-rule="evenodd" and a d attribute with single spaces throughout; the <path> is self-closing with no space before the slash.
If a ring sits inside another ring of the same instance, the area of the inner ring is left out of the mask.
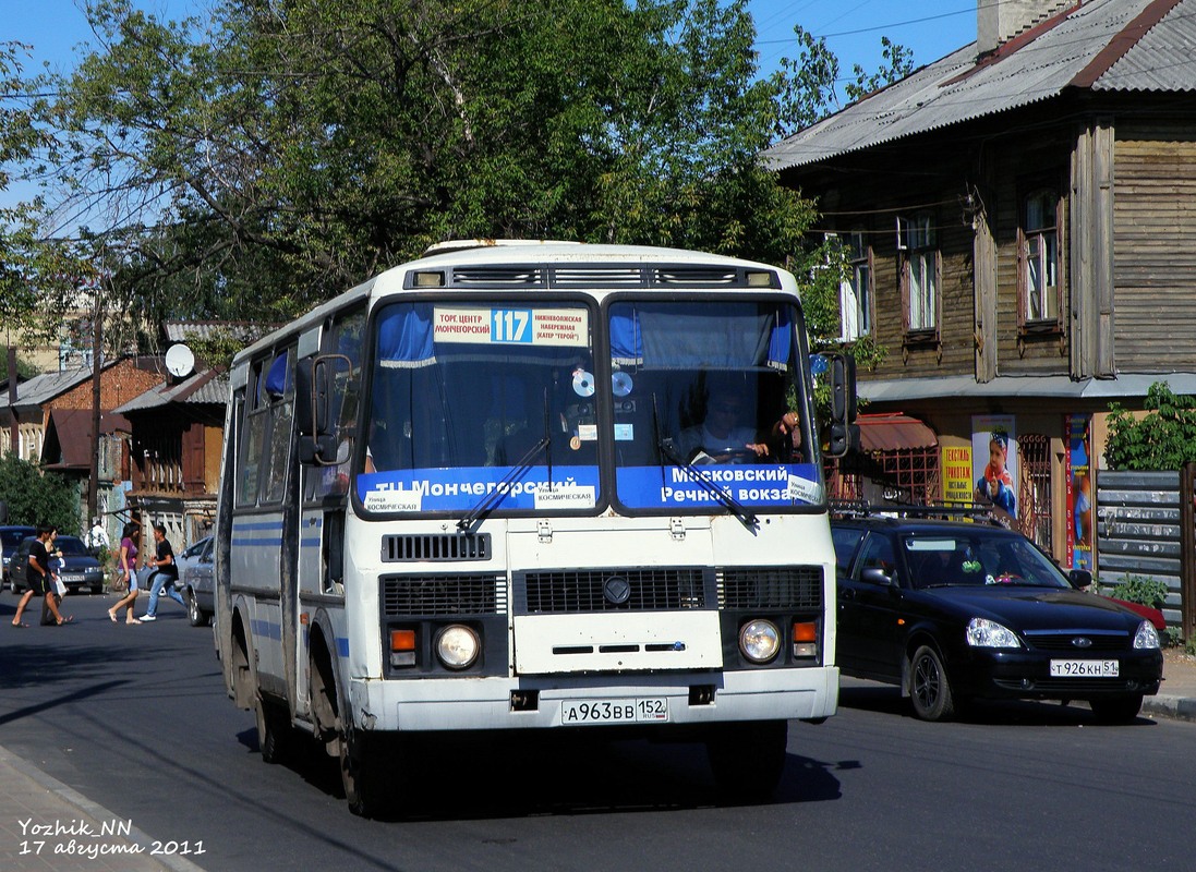
<path id="1" fill-rule="evenodd" d="M 841 444 L 854 384 L 831 370 Z M 785 270 L 441 245 L 245 349 L 231 392 L 225 683 L 267 761 L 298 731 L 325 743 L 355 813 L 386 805 L 420 733 L 452 731 L 700 740 L 721 789 L 763 798 L 786 721 L 835 713 L 835 555 Z"/>

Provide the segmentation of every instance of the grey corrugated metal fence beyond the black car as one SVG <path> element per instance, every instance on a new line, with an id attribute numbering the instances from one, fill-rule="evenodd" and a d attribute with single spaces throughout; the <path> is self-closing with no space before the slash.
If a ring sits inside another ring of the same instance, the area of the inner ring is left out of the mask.
<path id="1" fill-rule="evenodd" d="M 1184 591 L 1194 575 L 1191 468 L 1182 472 L 1100 470 L 1097 477 L 1097 573 L 1107 592 L 1127 574 L 1163 581 L 1168 627 L 1190 638 Z M 1185 537 L 1180 531 L 1186 531 Z M 1188 624 L 1185 628 L 1185 623 Z M 1188 630 L 1188 632 L 1185 632 Z"/>

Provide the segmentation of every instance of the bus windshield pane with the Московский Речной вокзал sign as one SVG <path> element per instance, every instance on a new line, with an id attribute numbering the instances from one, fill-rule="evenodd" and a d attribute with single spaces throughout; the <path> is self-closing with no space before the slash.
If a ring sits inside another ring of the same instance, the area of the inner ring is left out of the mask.
<path id="1" fill-rule="evenodd" d="M 657 299 L 609 311 L 624 508 L 727 507 L 715 489 L 749 510 L 822 502 L 792 303 Z"/>

